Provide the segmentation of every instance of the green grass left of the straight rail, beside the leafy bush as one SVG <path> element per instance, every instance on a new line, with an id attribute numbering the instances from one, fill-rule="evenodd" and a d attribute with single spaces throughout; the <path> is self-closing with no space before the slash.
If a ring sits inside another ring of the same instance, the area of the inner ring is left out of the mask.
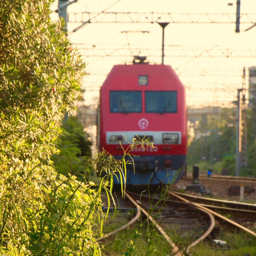
<path id="1" fill-rule="evenodd" d="M 128 222 L 134 216 L 134 211 L 108 214 L 103 225 L 103 233 L 108 233 Z M 172 250 L 167 241 L 158 233 L 155 227 L 147 220 L 138 221 L 133 228 L 124 229 L 108 239 L 100 242 L 103 256 L 115 255 L 170 255 Z"/>

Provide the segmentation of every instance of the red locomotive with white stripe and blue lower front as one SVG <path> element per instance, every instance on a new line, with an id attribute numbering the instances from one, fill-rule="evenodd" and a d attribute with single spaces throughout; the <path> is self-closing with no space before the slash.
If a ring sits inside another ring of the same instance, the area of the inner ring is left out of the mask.
<path id="1" fill-rule="evenodd" d="M 185 89 L 170 65 L 114 65 L 100 88 L 99 104 L 99 150 L 120 159 L 120 142 L 124 148 L 126 139 L 137 136 L 153 142 L 153 148 L 133 150 L 138 156 L 133 157 L 135 173 L 127 164 L 127 185 L 178 181 L 187 152 Z"/>

